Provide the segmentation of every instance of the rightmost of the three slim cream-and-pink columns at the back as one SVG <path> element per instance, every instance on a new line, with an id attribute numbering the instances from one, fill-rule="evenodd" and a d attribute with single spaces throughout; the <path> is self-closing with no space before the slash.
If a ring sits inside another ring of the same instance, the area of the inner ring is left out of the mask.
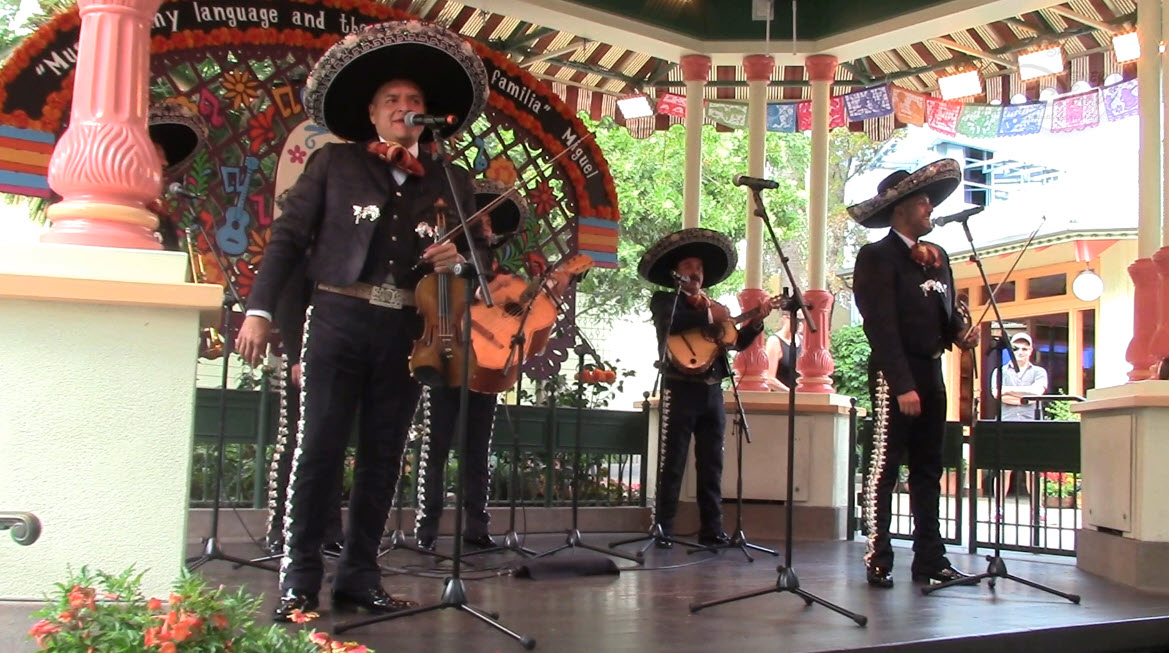
<path id="1" fill-rule="evenodd" d="M 828 243 L 828 124 L 832 81 L 836 78 L 836 57 L 811 55 L 804 60 L 804 69 L 811 81 L 811 172 L 808 189 L 808 286 L 804 304 L 819 329 L 804 331 L 803 352 L 796 362 L 800 371 L 800 390 L 805 393 L 831 393 L 832 371 L 836 361 L 829 352 L 828 335 L 831 331 L 829 312 L 832 293 L 824 290 L 826 243 Z"/>

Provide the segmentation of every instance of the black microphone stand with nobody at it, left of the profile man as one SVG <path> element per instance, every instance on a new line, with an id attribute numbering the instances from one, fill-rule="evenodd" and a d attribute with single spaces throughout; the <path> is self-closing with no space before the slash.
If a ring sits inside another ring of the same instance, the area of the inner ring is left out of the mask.
<path id="1" fill-rule="evenodd" d="M 808 325 L 808 331 L 815 333 L 816 321 L 812 320 L 811 313 L 808 312 L 808 306 L 803 301 L 803 293 L 800 292 L 800 285 L 796 283 L 795 276 L 791 273 L 791 266 L 788 265 L 788 257 L 783 255 L 783 248 L 780 246 L 780 239 L 775 236 L 775 230 L 772 229 L 772 221 L 767 216 L 767 208 L 763 206 L 763 199 L 760 196 L 760 189 L 752 187 L 752 194 L 755 197 L 755 215 L 758 215 L 762 221 L 763 225 L 767 227 L 767 232 L 772 238 L 772 244 L 775 246 L 775 252 L 780 257 L 780 263 L 783 265 L 783 271 L 788 277 L 788 283 L 791 284 L 791 297 L 786 300 L 787 306 L 784 308 L 791 315 L 791 333 L 797 332 L 800 313 L 803 313 L 804 321 Z M 756 596 L 762 596 L 772 592 L 791 592 L 800 598 L 804 599 L 804 604 L 811 605 L 812 603 L 818 603 L 829 610 L 837 612 L 852 619 L 858 626 L 864 626 L 869 623 L 869 617 L 859 614 L 856 612 L 850 612 L 839 605 L 829 603 L 823 598 L 802 589 L 800 586 L 800 578 L 796 576 L 796 570 L 791 567 L 791 543 L 793 543 L 793 505 L 795 503 L 795 468 L 796 468 L 796 393 L 795 385 L 788 388 L 788 487 L 787 487 L 787 499 L 783 501 L 784 505 L 784 560 L 783 564 L 779 568 L 779 577 L 776 578 L 775 586 L 765 588 L 761 590 L 755 590 L 738 596 L 732 596 L 727 598 L 720 598 L 717 600 L 711 600 L 706 603 L 692 603 L 690 604 L 691 612 L 698 612 L 699 610 L 711 607 L 713 605 L 721 605 L 724 603 L 731 603 L 735 600 L 741 600 L 745 598 L 752 598 Z"/>

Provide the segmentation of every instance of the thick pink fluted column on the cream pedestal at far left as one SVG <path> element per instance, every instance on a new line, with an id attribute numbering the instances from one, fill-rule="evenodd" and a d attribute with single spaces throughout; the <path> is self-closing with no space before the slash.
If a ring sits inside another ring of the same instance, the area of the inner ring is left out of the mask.
<path id="1" fill-rule="evenodd" d="M 160 0 L 79 0 L 81 40 L 69 128 L 49 160 L 47 243 L 161 249 L 146 204 L 161 161 L 146 131 L 150 26 Z"/>

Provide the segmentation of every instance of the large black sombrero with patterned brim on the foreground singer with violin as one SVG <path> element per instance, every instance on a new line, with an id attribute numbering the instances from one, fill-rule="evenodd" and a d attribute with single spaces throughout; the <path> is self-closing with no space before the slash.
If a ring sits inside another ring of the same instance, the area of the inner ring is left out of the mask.
<path id="1" fill-rule="evenodd" d="M 376 137 L 369 121 L 373 93 L 390 79 L 419 85 L 427 112 L 454 114 L 443 138 L 463 131 L 487 103 L 487 71 L 471 44 L 434 23 L 395 21 L 350 34 L 325 53 L 305 82 L 304 105 L 313 123 L 354 141 Z M 420 140 L 431 139 L 431 131 Z"/>

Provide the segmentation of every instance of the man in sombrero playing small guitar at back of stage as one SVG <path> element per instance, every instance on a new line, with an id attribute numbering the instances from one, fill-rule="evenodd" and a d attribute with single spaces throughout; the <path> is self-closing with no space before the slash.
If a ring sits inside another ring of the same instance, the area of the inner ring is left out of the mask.
<path id="1" fill-rule="evenodd" d="M 731 311 L 711 300 L 703 289 L 713 286 L 735 269 L 738 262 L 731 238 L 711 229 L 692 228 L 669 234 L 645 250 L 637 273 L 651 284 L 673 289 L 656 291 L 650 311 L 657 329 L 658 352 L 665 350 L 667 335 L 731 319 Z M 766 299 L 766 298 L 765 298 Z M 749 346 L 763 332 L 763 318 L 770 312 L 766 300 L 759 314 L 739 329 L 735 348 Z M 694 436 L 694 468 L 698 477 L 698 542 L 703 546 L 728 544 L 722 530 L 722 433 L 726 408 L 722 380 L 731 376 L 726 356 L 719 355 L 707 370 L 687 374 L 666 361 L 662 368 L 662 419 L 664 435 L 658 443 L 659 487 L 657 525 L 662 534 L 673 535 L 678 494 L 686 468 L 690 436 Z M 657 541 L 670 548 L 670 540 Z"/>

